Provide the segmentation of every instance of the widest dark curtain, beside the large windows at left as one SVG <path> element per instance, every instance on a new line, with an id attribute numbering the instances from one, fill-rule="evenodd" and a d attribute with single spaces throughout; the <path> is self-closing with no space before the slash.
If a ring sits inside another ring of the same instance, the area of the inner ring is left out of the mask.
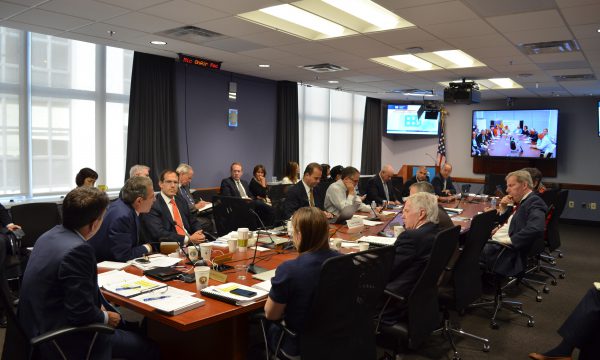
<path id="1" fill-rule="evenodd" d="M 131 166 L 147 165 L 156 187 L 160 172 L 174 169 L 179 163 L 174 81 L 173 59 L 135 52 L 125 179 Z"/>

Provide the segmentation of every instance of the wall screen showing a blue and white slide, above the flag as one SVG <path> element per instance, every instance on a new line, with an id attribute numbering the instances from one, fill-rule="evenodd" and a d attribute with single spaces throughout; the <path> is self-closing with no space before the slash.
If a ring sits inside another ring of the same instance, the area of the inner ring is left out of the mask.
<path id="1" fill-rule="evenodd" d="M 440 112 L 423 111 L 419 114 L 420 108 L 421 105 L 389 104 L 386 133 L 437 136 Z"/>

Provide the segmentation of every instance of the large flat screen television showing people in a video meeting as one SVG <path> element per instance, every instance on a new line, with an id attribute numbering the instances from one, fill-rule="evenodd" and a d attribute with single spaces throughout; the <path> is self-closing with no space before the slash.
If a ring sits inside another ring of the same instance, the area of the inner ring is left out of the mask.
<path id="1" fill-rule="evenodd" d="M 558 110 L 474 110 L 471 156 L 556 158 Z"/>

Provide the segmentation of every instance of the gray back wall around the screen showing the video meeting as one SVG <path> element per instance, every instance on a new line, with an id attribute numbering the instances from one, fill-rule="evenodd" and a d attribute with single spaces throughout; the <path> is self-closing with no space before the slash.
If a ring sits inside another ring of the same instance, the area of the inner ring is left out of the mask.
<path id="1" fill-rule="evenodd" d="M 515 109 L 557 108 L 558 123 L 558 175 L 551 182 L 600 185 L 600 137 L 598 137 L 598 98 L 532 98 L 515 99 Z M 479 109 L 507 109 L 506 101 L 487 101 L 473 105 L 447 104 L 446 155 L 454 166 L 453 176 L 483 178 L 473 173 L 470 155 L 470 129 L 472 111 Z M 382 139 L 382 162 L 396 168 L 403 164 L 433 164 L 427 156 L 435 158 L 437 137 L 406 140 Z M 564 218 L 600 221 L 600 210 L 583 208 L 582 203 L 600 205 L 600 193 L 571 191 L 572 209 L 566 208 Z"/>

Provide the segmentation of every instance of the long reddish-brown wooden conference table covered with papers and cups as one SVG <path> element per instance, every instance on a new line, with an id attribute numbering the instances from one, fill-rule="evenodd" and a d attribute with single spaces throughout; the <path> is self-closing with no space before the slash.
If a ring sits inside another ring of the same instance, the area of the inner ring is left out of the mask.
<path id="1" fill-rule="evenodd" d="M 486 203 L 472 203 L 469 200 L 454 200 L 452 202 L 442 203 L 444 207 L 463 209 L 463 212 L 456 217 L 455 224 L 460 225 L 462 233 L 468 231 L 470 218 L 482 211 Z M 489 204 L 487 204 L 489 206 Z M 387 233 L 393 234 L 393 226 L 401 225 L 402 218 L 399 210 L 393 211 L 390 215 L 380 216 L 381 224 L 376 226 L 365 226 L 360 232 L 349 231 L 345 225 L 330 225 L 330 234 L 336 238 L 342 238 L 347 241 L 356 241 L 365 235 L 380 235 Z M 451 214 L 452 215 L 452 214 Z M 228 252 L 227 249 L 223 251 Z M 358 248 L 342 247 L 340 252 L 356 252 Z M 254 250 L 251 248 L 247 252 L 235 252 L 232 259 L 227 262 L 228 265 L 250 264 L 254 256 Z M 268 250 L 258 252 L 256 255 L 256 264 L 266 269 L 274 269 L 286 260 L 298 256 L 296 251 L 289 250 Z M 182 259 L 181 265 L 185 263 Z M 187 265 L 186 265 L 187 266 Z M 187 266 L 186 270 L 190 270 Z M 142 271 L 134 266 L 128 266 L 124 269 L 136 275 L 142 275 Z M 100 269 L 100 272 L 106 271 Z M 235 270 L 223 272 L 227 275 L 227 282 L 238 282 L 251 286 L 260 282 L 252 278 L 251 274 L 246 276 L 245 280 L 238 280 Z M 174 286 L 183 290 L 196 292 L 195 283 L 184 283 L 179 280 L 167 282 L 169 286 Z M 213 279 L 210 279 L 209 285 L 218 285 Z M 120 295 L 104 291 L 104 296 L 112 303 L 128 308 L 139 313 L 147 319 L 148 336 L 156 341 L 161 349 L 161 358 L 182 358 L 183 356 L 194 356 L 194 358 L 206 359 L 245 359 L 248 350 L 249 334 L 249 315 L 256 310 L 264 307 L 265 300 L 247 306 L 235 306 L 225 302 L 198 296 L 205 300 L 205 304 L 199 308 L 184 312 L 175 316 L 168 316 L 157 312 L 154 308 L 140 302 L 122 297 Z"/>

